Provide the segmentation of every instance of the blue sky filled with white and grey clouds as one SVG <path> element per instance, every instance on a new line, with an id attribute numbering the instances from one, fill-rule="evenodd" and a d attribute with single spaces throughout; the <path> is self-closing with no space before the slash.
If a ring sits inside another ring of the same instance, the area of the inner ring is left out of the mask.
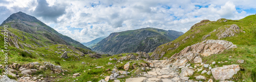
<path id="1" fill-rule="evenodd" d="M 186 32 L 203 19 L 241 19 L 254 0 L 0 0 L 0 22 L 22 11 L 63 35 L 89 42 L 113 32 L 152 27 Z"/>

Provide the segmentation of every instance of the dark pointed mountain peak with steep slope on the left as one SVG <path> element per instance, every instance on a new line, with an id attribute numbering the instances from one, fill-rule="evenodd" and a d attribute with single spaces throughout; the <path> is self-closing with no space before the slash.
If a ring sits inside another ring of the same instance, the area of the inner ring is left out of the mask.
<path id="1" fill-rule="evenodd" d="M 75 47 L 81 47 L 85 49 L 90 49 L 78 41 L 73 40 L 72 38 L 62 35 L 52 29 L 50 26 L 46 25 L 44 22 L 36 19 L 33 16 L 30 16 L 23 12 L 17 12 L 8 17 L 2 24 L 7 24 L 14 29 L 19 31 L 24 31 L 26 33 L 32 34 L 34 38 L 37 40 L 41 40 L 45 37 L 47 39 L 46 43 L 38 43 L 35 40 L 35 43 L 39 46 L 48 45 L 48 43 L 52 44 L 65 44 L 72 45 Z"/>

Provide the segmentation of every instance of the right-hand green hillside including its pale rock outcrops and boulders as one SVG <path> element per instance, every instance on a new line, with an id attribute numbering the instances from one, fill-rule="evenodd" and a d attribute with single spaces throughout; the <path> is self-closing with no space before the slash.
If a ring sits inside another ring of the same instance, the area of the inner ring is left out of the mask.
<path id="1" fill-rule="evenodd" d="M 186 75 L 189 79 L 202 75 L 204 81 L 256 81 L 255 51 L 256 15 L 250 15 L 240 20 L 202 20 L 176 40 L 158 46 L 151 58 L 167 59 L 173 67 L 197 71 Z M 228 70 L 236 73 L 227 73 Z"/>

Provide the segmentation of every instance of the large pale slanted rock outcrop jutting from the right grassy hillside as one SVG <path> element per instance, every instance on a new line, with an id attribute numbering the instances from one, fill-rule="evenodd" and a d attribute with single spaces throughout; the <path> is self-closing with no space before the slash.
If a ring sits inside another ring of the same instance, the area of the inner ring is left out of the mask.
<path id="1" fill-rule="evenodd" d="M 210 56 L 211 54 L 218 54 L 230 48 L 236 48 L 232 42 L 225 40 L 205 40 L 191 46 L 187 46 L 179 53 L 175 53 L 170 59 L 175 59 L 177 63 L 174 65 L 183 66 L 187 59 L 190 62 L 200 63 L 200 56 Z M 197 58 L 197 59 L 195 59 Z M 181 65 L 182 64 L 182 65 Z"/>

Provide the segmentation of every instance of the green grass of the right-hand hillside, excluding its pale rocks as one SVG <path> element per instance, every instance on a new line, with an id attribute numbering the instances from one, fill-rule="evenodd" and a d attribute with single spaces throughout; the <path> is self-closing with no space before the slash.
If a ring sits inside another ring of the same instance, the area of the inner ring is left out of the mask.
<path id="1" fill-rule="evenodd" d="M 225 20 L 227 21 L 225 22 Z M 227 30 L 232 24 L 239 26 L 240 29 L 237 33 L 231 37 L 218 38 L 220 33 Z M 237 45 L 238 48 L 204 57 L 203 63 L 228 61 L 227 63 L 217 63 L 218 66 L 222 66 L 238 64 L 237 60 L 245 60 L 244 64 L 240 64 L 242 71 L 239 71 L 237 76 L 235 76 L 237 77 L 235 80 L 256 81 L 256 15 L 250 15 L 240 20 L 220 19 L 218 21 L 204 21 L 192 27 L 176 40 L 157 47 L 152 55 L 164 53 L 161 59 L 172 57 L 173 54 L 178 53 L 185 47 L 202 42 L 202 38 L 210 34 L 210 37 L 207 37 L 205 40 L 227 40 Z M 175 44 L 179 46 L 175 48 Z"/>

